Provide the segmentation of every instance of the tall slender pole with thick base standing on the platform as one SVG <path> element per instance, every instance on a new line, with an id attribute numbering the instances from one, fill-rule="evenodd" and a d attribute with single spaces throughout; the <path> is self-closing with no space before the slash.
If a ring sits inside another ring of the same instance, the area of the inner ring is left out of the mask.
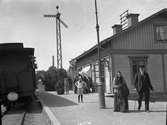
<path id="1" fill-rule="evenodd" d="M 97 12 L 97 1 L 95 0 L 95 15 L 96 15 L 96 31 L 97 31 L 97 44 L 98 44 L 98 68 L 99 68 L 99 82 L 98 93 L 99 93 L 99 104 L 100 108 L 105 108 L 105 98 L 104 98 L 104 86 L 102 83 L 102 71 L 101 71 L 101 54 L 100 54 L 100 35 L 99 35 L 99 22 L 98 22 L 98 12 Z"/>

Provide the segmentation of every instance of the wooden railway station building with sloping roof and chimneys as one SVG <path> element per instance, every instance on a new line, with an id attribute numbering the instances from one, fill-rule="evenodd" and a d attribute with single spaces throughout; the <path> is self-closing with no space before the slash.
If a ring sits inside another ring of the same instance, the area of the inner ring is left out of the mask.
<path id="1" fill-rule="evenodd" d="M 139 66 L 144 66 L 154 87 L 153 93 L 167 93 L 167 9 L 139 21 L 139 14 L 127 15 L 127 28 L 114 25 L 113 35 L 102 40 L 101 60 L 106 93 L 113 92 L 112 80 L 121 71 L 133 93 L 133 79 Z M 75 72 L 84 71 L 94 84 L 98 79 L 97 45 L 73 58 Z"/>

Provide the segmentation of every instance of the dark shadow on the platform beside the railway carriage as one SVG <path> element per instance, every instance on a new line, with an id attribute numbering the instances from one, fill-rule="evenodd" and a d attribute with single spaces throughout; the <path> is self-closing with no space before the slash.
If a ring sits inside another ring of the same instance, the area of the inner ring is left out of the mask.
<path id="1" fill-rule="evenodd" d="M 40 93 L 40 97 L 48 107 L 64 107 L 78 105 L 77 103 L 52 93 Z"/>

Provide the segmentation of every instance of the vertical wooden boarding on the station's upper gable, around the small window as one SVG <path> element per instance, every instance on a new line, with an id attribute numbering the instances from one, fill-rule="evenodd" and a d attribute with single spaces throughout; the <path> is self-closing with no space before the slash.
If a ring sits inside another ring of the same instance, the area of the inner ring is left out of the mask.
<path id="1" fill-rule="evenodd" d="M 167 42 L 156 41 L 154 27 L 167 24 L 167 18 L 155 18 L 111 41 L 113 49 L 167 49 Z"/>

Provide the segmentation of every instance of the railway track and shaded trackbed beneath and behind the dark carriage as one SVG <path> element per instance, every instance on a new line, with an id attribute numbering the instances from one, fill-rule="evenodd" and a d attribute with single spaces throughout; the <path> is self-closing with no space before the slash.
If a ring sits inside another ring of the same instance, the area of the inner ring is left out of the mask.
<path id="1" fill-rule="evenodd" d="M 45 122 L 42 106 L 36 99 L 26 105 L 16 104 L 2 117 L 2 125 L 46 125 Z"/>

